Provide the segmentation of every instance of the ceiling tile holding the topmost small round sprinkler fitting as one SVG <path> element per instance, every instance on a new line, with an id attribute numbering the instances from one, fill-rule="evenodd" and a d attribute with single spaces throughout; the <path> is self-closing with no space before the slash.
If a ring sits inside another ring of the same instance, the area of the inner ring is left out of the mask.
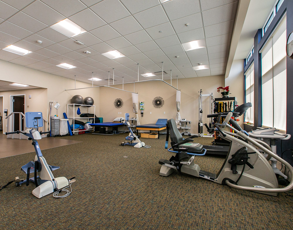
<path id="1" fill-rule="evenodd" d="M 202 17 L 200 13 L 195 13 L 190 16 L 179 18 L 176 20 L 171 21 L 176 33 L 183 33 L 189 30 L 195 30 L 201 28 L 202 24 Z M 188 26 L 186 26 L 188 24 Z"/>

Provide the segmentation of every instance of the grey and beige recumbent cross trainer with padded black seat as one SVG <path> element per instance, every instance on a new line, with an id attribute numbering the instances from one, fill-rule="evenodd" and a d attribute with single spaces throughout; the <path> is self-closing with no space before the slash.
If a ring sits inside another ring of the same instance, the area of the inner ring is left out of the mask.
<path id="1" fill-rule="evenodd" d="M 219 116 L 221 116 L 221 114 L 219 114 Z M 220 132 L 220 137 L 230 142 L 229 154 L 217 174 L 202 171 L 200 170 L 200 167 L 194 163 L 195 156 L 205 154 L 205 151 L 202 153 L 203 146 L 201 144 L 190 143 L 193 141 L 191 138 L 196 137 L 196 135 L 183 140 L 181 133 L 176 128 L 174 119 L 168 120 L 166 142 L 168 141 L 168 133 L 170 133 L 172 147 L 169 148 L 168 151 L 175 152 L 176 156 L 172 156 L 170 160 L 159 160 L 159 164 L 162 165 L 160 175 L 169 176 L 177 170 L 182 173 L 202 177 L 233 188 L 273 196 L 277 196 L 280 192 L 291 190 L 293 188 L 293 180 L 291 179 L 288 186 L 279 188 L 277 177 L 271 165 L 255 147 L 245 142 L 245 140 L 284 164 L 290 171 L 291 175 L 293 175 L 292 166 L 281 157 L 275 155 L 268 148 L 264 147 L 253 138 L 250 138 L 246 131 L 238 131 L 230 126 L 228 121 L 231 116 L 232 113 L 229 112 L 222 124 L 215 124 L 217 130 Z M 226 126 L 232 128 L 237 133 L 224 131 Z M 167 144 L 168 143 L 166 143 L 166 145 Z"/>

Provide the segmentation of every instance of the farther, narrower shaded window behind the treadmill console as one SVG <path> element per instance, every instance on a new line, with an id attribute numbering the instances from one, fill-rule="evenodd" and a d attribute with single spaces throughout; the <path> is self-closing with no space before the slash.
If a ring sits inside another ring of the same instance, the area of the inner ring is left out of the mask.
<path id="1" fill-rule="evenodd" d="M 252 107 L 247 109 L 244 117 L 246 123 L 253 124 L 254 117 L 254 63 L 251 64 L 245 75 L 245 102 L 251 102 Z"/>

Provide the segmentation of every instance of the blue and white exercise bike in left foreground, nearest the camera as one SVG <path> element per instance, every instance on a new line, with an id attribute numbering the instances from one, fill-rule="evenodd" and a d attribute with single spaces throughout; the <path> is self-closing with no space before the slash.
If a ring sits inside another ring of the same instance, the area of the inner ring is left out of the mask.
<path id="1" fill-rule="evenodd" d="M 36 188 L 33 190 L 33 195 L 37 198 L 41 198 L 45 195 L 53 193 L 54 191 L 62 190 L 62 188 L 69 185 L 69 181 L 65 177 L 54 178 L 51 171 L 59 169 L 58 166 L 48 165 L 45 158 L 42 155 L 39 144 L 37 140 L 42 139 L 41 134 L 50 133 L 50 132 L 39 132 L 39 127 L 43 126 L 42 122 L 42 113 L 41 112 L 26 112 L 25 113 L 25 123 L 27 128 L 24 132 L 16 131 L 5 133 L 22 133 L 28 137 L 28 140 L 32 140 L 32 145 L 35 147 L 35 160 L 28 162 L 21 167 L 21 170 L 27 174 L 26 180 L 15 178 L 16 186 L 20 186 L 23 183 L 26 183 L 26 186 L 29 185 L 29 182 L 32 181 L 35 183 Z M 34 177 L 30 178 L 30 173 L 34 173 Z M 67 191 L 67 190 L 66 190 Z"/>

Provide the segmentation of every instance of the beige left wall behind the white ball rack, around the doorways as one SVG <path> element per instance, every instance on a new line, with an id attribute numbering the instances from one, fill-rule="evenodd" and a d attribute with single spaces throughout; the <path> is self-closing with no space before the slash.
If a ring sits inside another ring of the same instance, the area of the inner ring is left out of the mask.
<path id="1" fill-rule="evenodd" d="M 42 95 L 38 95 L 38 93 L 31 93 L 32 99 L 28 99 L 28 94 L 26 95 L 26 102 L 29 103 L 30 108 L 37 109 L 39 111 L 39 107 L 41 106 L 44 111 L 42 111 L 44 117 L 48 117 L 49 113 L 49 101 L 53 101 L 54 105 L 56 102 L 60 104 L 58 109 L 58 115 L 60 118 L 63 118 L 63 113 L 67 113 L 67 104 L 71 103 L 71 98 L 74 95 L 81 95 L 82 97 L 92 97 L 94 99 L 94 105 L 96 106 L 96 116 L 99 116 L 99 108 L 100 108 L 100 88 L 89 88 L 89 89 L 81 89 L 81 90 L 67 90 L 65 89 L 74 89 L 74 80 L 69 78 L 64 78 L 60 76 L 56 76 L 50 73 L 44 73 L 38 70 L 30 69 L 24 66 L 19 66 L 13 63 L 9 63 L 6 61 L 0 60 L 0 80 L 11 81 L 15 83 L 21 83 L 26 85 L 33 85 L 42 87 L 44 89 L 40 89 Z M 76 88 L 83 87 L 91 87 L 91 84 L 87 84 L 84 82 L 76 81 Z M 46 90 L 42 91 L 42 90 Z M 23 91 L 23 90 L 17 90 Z M 12 91 L 2 91 L 0 95 L 4 95 L 4 102 L 8 103 L 4 104 L 8 109 L 8 114 L 10 111 L 9 106 L 9 95 L 18 94 L 15 90 Z M 7 96 L 8 95 L 8 96 Z M 8 98 L 7 98 L 8 97 Z M 5 108 L 6 109 L 6 108 Z M 32 110 L 31 110 L 32 111 Z M 87 112 L 87 111 L 82 111 Z M 52 108 L 52 115 L 57 114 L 57 110 Z M 72 121 L 71 121 L 72 122 Z M 6 126 L 6 123 L 4 122 Z M 5 127 L 4 126 L 4 127 Z"/>

